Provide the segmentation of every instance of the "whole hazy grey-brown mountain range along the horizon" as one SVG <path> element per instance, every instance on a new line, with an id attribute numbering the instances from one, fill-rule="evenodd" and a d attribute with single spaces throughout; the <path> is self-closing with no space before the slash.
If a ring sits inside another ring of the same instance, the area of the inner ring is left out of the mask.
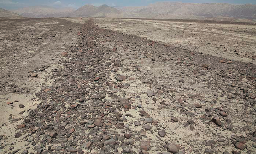
<path id="1" fill-rule="evenodd" d="M 29 18 L 39 17 L 116 17 L 158 19 L 200 19 L 256 22 L 256 5 L 234 5 L 228 3 L 179 3 L 157 2 L 147 6 L 110 7 L 107 5 L 84 5 L 73 8 L 34 6 L 13 10 Z"/>

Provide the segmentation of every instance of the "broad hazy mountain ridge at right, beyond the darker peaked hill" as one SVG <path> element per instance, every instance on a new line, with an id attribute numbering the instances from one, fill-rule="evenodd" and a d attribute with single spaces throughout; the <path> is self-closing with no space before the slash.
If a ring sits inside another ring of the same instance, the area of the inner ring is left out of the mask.
<path id="1" fill-rule="evenodd" d="M 127 17 L 140 16 L 141 18 L 177 18 L 195 16 L 195 18 L 256 18 L 256 5 L 234 5 L 228 3 L 179 3 L 157 2 L 147 6 L 123 7 L 120 11 L 125 12 Z M 125 15 L 126 16 L 126 15 Z"/>

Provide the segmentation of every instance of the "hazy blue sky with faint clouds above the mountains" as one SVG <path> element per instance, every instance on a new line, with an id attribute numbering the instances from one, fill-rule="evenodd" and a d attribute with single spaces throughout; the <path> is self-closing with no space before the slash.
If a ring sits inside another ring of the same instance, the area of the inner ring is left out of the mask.
<path id="1" fill-rule="evenodd" d="M 141 6 L 150 3 L 169 1 L 184 3 L 232 3 L 232 4 L 256 4 L 256 0 L 0 0 L 0 8 L 16 9 L 34 5 L 48 5 L 53 7 L 74 7 L 78 8 L 85 4 L 109 6 Z"/>

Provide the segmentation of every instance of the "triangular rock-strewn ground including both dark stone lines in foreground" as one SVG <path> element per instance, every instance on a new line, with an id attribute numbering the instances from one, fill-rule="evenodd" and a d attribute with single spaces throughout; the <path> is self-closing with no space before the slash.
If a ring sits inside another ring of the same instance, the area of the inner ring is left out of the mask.
<path id="1" fill-rule="evenodd" d="M 35 91 L 37 106 L 19 125 L 2 125 L 15 133 L 1 129 L 1 153 L 256 153 L 254 64 L 102 29 L 93 19 L 77 34 L 63 67 L 49 72 L 53 82 Z"/>

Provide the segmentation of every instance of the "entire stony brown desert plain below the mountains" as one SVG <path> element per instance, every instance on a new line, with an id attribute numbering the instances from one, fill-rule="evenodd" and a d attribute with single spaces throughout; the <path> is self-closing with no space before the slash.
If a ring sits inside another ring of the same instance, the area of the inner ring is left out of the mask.
<path id="1" fill-rule="evenodd" d="M 255 28 L 0 20 L 0 153 L 255 154 Z"/>

